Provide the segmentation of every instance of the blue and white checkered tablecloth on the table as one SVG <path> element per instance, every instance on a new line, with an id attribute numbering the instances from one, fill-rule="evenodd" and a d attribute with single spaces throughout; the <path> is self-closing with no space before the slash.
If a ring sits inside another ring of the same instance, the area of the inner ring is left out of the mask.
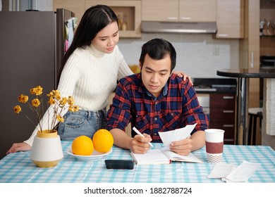
<path id="1" fill-rule="evenodd" d="M 96 183 L 151 183 L 151 182 L 222 182 L 208 179 L 214 164 L 207 163 L 205 146 L 193 152 L 203 163 L 172 162 L 170 165 L 135 165 L 133 170 L 107 170 L 105 159 L 132 159 L 130 151 L 116 146 L 102 160 L 83 162 L 66 153 L 71 141 L 62 141 L 64 158 L 56 167 L 36 167 L 30 151 L 12 153 L 0 160 L 0 182 L 96 182 Z M 154 144 L 161 148 L 162 144 Z M 275 182 L 275 151 L 269 146 L 224 145 L 224 163 L 240 165 L 243 160 L 261 163 L 249 182 Z"/>

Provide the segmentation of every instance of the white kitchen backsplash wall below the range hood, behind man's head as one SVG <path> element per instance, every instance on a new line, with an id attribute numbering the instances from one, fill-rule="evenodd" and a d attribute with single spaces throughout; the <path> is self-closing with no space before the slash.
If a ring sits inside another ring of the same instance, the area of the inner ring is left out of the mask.
<path id="1" fill-rule="evenodd" d="M 142 44 L 156 37 L 175 47 L 175 70 L 193 78 L 216 78 L 216 70 L 239 67 L 238 39 L 214 39 L 213 34 L 142 34 L 141 39 L 121 38 L 118 46 L 129 65 L 138 64 Z"/>

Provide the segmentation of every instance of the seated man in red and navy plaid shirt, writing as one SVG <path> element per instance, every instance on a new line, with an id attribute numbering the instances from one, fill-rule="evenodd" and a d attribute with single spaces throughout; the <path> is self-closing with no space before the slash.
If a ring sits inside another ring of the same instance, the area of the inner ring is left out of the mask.
<path id="1" fill-rule="evenodd" d="M 176 66 L 176 51 L 164 39 L 152 39 L 142 46 L 141 72 L 124 77 L 118 83 L 116 95 L 107 114 L 107 127 L 114 144 L 133 153 L 146 153 L 149 141 L 162 142 L 159 132 L 197 123 L 189 139 L 179 139 L 170 150 L 180 155 L 202 148 L 207 115 L 197 101 L 197 94 L 188 80 L 172 73 Z M 131 122 L 144 136 L 130 137 L 125 129 Z"/>

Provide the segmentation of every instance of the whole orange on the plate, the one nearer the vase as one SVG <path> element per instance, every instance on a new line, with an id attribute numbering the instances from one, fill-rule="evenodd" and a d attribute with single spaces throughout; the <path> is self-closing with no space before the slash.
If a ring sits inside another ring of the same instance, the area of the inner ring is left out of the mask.
<path id="1" fill-rule="evenodd" d="M 72 151 L 75 155 L 92 155 L 94 144 L 88 136 L 78 136 L 73 140 Z"/>

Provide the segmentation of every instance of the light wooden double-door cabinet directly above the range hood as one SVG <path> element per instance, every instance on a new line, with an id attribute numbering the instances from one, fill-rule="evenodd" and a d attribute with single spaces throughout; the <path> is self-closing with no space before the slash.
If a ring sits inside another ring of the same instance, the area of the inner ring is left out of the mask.
<path id="1" fill-rule="evenodd" d="M 215 22 L 216 0 L 142 0 L 142 20 Z"/>

